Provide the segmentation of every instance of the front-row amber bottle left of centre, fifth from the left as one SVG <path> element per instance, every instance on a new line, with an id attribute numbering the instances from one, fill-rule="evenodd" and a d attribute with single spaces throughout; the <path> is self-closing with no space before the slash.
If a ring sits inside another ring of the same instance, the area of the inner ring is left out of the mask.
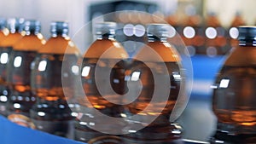
<path id="1" fill-rule="evenodd" d="M 110 131 L 115 131 L 115 128 L 110 126 L 112 122 L 97 115 L 93 109 L 109 117 L 121 117 L 123 106 L 112 101 L 122 101 L 120 95 L 125 94 L 125 59 L 128 54 L 115 39 L 116 23 L 103 22 L 95 27 L 96 41 L 85 52 L 81 65 L 85 95 L 79 97 L 81 110 L 76 119 L 75 140 L 90 144 L 106 141 L 122 143 L 118 135 L 108 135 L 113 133 Z M 96 69 L 102 73 L 96 74 Z M 84 101 L 84 96 L 88 101 Z M 108 100 L 104 96 L 108 96 Z M 118 127 L 118 124 L 116 125 Z"/>

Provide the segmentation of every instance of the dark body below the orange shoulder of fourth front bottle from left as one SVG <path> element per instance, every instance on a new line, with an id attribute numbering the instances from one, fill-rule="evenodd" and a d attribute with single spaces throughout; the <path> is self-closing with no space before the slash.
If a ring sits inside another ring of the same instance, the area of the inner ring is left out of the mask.
<path id="1" fill-rule="evenodd" d="M 76 55 L 66 56 L 67 60 L 77 61 L 78 59 Z M 64 55 L 55 54 L 37 55 L 32 69 L 32 91 L 37 96 L 37 102 L 30 111 L 30 117 L 37 130 L 72 138 L 72 112 L 68 107 L 66 101 L 68 97 L 64 94 L 61 84 L 63 57 Z M 74 75 L 71 67 L 75 65 L 76 63 L 71 64 L 70 67 L 67 66 L 66 70 L 71 83 Z"/>

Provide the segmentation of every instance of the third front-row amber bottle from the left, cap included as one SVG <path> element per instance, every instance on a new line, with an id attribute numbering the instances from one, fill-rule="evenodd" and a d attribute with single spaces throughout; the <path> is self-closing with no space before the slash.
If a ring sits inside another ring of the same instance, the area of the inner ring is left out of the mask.
<path id="1" fill-rule="evenodd" d="M 26 20 L 23 26 L 24 37 L 15 43 L 10 53 L 7 66 L 7 83 L 9 86 L 9 101 L 7 113 L 10 121 L 34 129 L 29 118 L 29 110 L 36 98 L 32 95 L 30 86 L 31 64 L 45 43 L 40 33 L 38 20 Z"/>

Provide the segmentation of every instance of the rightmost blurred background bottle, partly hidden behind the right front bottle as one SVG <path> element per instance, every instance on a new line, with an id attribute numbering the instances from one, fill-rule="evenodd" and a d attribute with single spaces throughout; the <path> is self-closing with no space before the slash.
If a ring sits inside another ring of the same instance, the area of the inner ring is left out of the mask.
<path id="1" fill-rule="evenodd" d="M 241 13 L 240 12 L 236 12 L 235 18 L 231 21 L 231 25 L 229 28 L 229 47 L 230 49 L 235 48 L 238 45 L 238 26 L 243 26 L 245 25 L 245 21 L 243 20 L 243 18 L 241 17 Z M 230 50 L 228 49 L 228 50 Z"/>

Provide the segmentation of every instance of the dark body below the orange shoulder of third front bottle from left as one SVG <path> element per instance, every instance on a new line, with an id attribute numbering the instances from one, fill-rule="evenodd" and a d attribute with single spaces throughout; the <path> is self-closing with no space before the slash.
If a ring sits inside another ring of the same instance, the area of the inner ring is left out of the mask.
<path id="1" fill-rule="evenodd" d="M 29 111 L 36 98 L 30 87 L 31 63 L 37 51 L 13 50 L 8 66 L 9 101 L 7 115 L 10 121 L 34 129 Z"/>

